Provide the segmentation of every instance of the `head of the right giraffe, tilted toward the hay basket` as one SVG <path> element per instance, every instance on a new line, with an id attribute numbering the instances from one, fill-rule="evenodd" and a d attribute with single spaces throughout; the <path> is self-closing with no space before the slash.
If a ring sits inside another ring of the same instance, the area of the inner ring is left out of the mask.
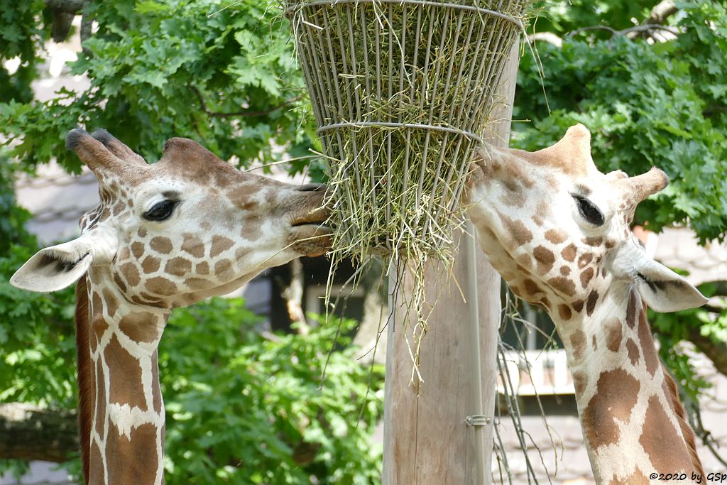
<path id="1" fill-rule="evenodd" d="M 630 230 L 639 202 L 667 183 L 656 168 L 635 177 L 599 172 L 579 124 L 537 152 L 483 148 L 465 203 L 494 268 L 555 318 L 590 316 L 619 282 L 634 285 L 654 310 L 675 311 L 706 299 L 648 257 Z"/>

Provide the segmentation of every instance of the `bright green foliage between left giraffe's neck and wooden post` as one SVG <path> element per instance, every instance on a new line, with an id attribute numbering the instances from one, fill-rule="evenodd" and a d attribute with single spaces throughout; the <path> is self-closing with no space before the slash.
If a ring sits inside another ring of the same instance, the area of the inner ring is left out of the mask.
<path id="1" fill-rule="evenodd" d="M 214 298 L 169 320 L 159 356 L 166 483 L 377 483 L 383 369 L 336 340 L 338 324 L 347 334 L 356 322 L 263 337 L 243 305 Z"/>

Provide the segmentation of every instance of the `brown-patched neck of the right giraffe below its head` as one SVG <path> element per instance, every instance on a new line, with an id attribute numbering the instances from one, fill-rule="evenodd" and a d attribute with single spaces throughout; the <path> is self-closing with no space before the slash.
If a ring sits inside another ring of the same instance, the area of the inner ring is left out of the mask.
<path id="1" fill-rule="evenodd" d="M 640 295 L 612 284 L 600 303 L 557 324 L 596 481 L 648 484 L 651 473 L 680 471 L 704 476 Z"/>

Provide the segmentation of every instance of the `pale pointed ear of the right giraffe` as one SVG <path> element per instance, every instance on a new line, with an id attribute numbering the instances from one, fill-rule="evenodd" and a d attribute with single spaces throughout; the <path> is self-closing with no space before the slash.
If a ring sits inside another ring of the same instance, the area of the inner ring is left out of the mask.
<path id="1" fill-rule="evenodd" d="M 635 265 L 635 284 L 649 308 L 660 313 L 704 305 L 707 298 L 686 279 L 660 262 L 645 257 Z"/>

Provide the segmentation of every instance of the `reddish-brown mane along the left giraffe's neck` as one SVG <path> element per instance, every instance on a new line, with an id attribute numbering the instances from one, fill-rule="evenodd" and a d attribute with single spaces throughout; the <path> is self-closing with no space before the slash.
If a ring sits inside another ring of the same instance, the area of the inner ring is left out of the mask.
<path id="1" fill-rule="evenodd" d="M 76 283 L 76 350 L 78 352 L 77 380 L 79 383 L 79 442 L 84 483 L 89 481 L 89 448 L 91 444 L 92 382 L 91 348 L 89 347 L 89 297 L 87 276 Z"/>

